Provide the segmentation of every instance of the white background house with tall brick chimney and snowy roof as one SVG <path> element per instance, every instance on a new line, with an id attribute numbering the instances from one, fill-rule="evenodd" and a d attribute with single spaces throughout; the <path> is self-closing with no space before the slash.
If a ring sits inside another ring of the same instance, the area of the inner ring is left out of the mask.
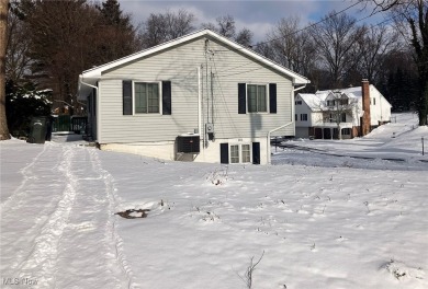
<path id="1" fill-rule="evenodd" d="M 363 80 L 361 86 L 300 93 L 295 96 L 296 137 L 349 139 L 388 123 L 391 104 Z"/>

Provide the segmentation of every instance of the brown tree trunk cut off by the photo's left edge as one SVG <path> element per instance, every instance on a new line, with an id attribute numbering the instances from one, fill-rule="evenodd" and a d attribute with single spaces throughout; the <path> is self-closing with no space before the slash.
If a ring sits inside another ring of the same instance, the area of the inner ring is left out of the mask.
<path id="1" fill-rule="evenodd" d="M 0 0 L 0 140 L 10 139 L 5 117 L 5 42 L 9 0 Z"/>

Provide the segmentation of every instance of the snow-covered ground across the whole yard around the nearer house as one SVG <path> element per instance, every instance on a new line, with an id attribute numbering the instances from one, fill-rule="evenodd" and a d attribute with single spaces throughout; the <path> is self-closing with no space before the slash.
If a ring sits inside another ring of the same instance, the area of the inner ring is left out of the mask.
<path id="1" fill-rule="evenodd" d="M 416 123 L 288 142 L 267 166 L 2 141 L 1 288 L 248 288 L 251 259 L 252 288 L 428 288 Z"/>

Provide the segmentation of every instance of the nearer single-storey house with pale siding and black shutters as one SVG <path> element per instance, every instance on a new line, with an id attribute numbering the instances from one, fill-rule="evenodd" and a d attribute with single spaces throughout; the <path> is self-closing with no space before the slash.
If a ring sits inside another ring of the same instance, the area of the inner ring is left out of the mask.
<path id="1" fill-rule="evenodd" d="M 203 30 L 79 76 L 102 150 L 181 161 L 270 162 L 294 136 L 294 92 L 309 81 Z"/>

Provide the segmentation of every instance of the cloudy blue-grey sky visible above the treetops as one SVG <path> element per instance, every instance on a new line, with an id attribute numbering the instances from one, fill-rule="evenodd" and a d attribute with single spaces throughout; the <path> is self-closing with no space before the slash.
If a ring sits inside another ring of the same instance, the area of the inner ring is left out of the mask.
<path id="1" fill-rule="evenodd" d="M 143 22 L 150 13 L 164 13 L 167 10 L 178 11 L 184 9 L 192 12 L 195 18 L 195 25 L 199 28 L 201 23 L 212 22 L 222 15 L 232 15 L 235 19 L 237 31 L 247 27 L 255 34 L 255 41 L 263 41 L 268 32 L 282 19 L 297 15 L 302 26 L 309 22 L 319 21 L 328 12 L 341 11 L 356 0 L 198 0 L 198 1 L 146 1 L 146 0 L 119 0 L 121 8 L 126 13 L 133 15 L 136 23 Z M 360 5 L 356 5 L 346 11 L 357 20 L 369 15 L 371 11 L 361 11 Z M 381 14 L 374 15 L 363 22 L 382 22 Z"/>

